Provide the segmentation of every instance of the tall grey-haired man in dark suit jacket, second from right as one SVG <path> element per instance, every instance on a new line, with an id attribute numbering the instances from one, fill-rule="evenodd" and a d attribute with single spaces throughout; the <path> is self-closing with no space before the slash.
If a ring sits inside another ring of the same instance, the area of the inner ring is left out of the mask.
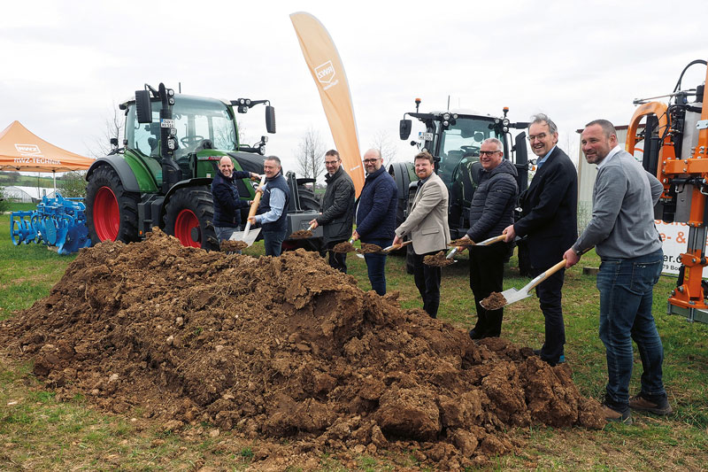
<path id="1" fill-rule="evenodd" d="M 536 173 L 520 198 L 521 218 L 504 234 L 507 243 L 516 236 L 527 238 L 531 274 L 536 276 L 563 260 L 564 251 L 578 236 L 578 174 L 556 145 L 558 128 L 548 116 L 532 117 L 528 141 L 538 156 Z M 536 287 L 546 331 L 543 347 L 536 353 L 551 366 L 565 361 L 566 328 L 560 305 L 564 275 L 561 269 Z"/>

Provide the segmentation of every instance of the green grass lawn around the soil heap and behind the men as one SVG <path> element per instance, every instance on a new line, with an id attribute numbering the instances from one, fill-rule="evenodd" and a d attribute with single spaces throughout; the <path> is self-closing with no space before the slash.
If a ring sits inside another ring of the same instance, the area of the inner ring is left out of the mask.
<path id="1" fill-rule="evenodd" d="M 0 215 L 0 323 L 46 296 L 73 256 L 58 256 L 43 245 L 13 246 L 10 216 Z M 263 253 L 262 243 L 244 251 Z M 464 254 L 457 264 L 443 268 L 439 317 L 470 329 L 475 320 L 472 291 Z M 347 259 L 350 274 L 364 290 L 370 289 L 363 259 Z M 515 258 L 506 270 L 504 288 L 520 288 Z M 597 267 L 594 252 L 566 273 L 564 311 L 566 360 L 581 392 L 601 399 L 606 382 L 604 347 L 597 337 L 599 296 L 595 277 L 581 267 Z M 404 308 L 422 306 L 404 259 L 389 257 L 389 291 L 400 292 Z M 666 297 L 675 279 L 662 277 L 655 290 L 654 315 L 664 342 L 664 380 L 675 414 L 668 418 L 635 414 L 635 425 L 608 425 L 605 429 L 518 429 L 513 434 L 526 446 L 496 458 L 489 470 L 699 470 L 708 468 L 708 326 L 689 324 L 666 315 Z M 504 312 L 503 336 L 534 348 L 543 343 L 543 315 L 535 297 Z M 639 385 L 641 362 L 635 357 L 631 391 Z M 222 432 L 227 437 L 229 432 Z M 249 444 L 225 451 L 208 434 L 189 439 L 165 434 L 148 422 L 100 414 L 84 398 L 58 402 L 31 374 L 31 366 L 0 357 L 0 470 L 246 470 L 252 463 Z M 357 458 L 359 470 L 391 470 L 389 462 Z M 344 470 L 323 456 L 321 470 Z M 297 468 L 290 468 L 297 470 Z"/>

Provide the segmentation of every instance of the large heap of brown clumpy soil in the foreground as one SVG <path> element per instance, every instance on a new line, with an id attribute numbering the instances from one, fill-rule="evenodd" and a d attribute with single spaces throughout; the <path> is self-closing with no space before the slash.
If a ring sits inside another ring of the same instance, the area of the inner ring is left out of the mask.
<path id="1" fill-rule="evenodd" d="M 205 252 L 157 229 L 81 250 L 49 297 L 4 321 L 0 345 L 34 360 L 58 398 L 81 392 L 165 429 L 288 438 L 281 453 L 414 450 L 458 468 L 518 447 L 510 427 L 603 425 L 566 365 L 474 344 L 315 253 Z"/>

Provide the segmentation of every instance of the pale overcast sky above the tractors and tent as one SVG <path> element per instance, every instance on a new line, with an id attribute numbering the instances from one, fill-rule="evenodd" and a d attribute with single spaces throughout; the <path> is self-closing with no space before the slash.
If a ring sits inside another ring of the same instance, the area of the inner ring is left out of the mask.
<path id="1" fill-rule="evenodd" d="M 669 93 L 684 66 L 708 59 L 705 0 L 504 2 L 24 1 L 0 15 L 0 130 L 19 120 L 68 151 L 89 155 L 112 107 L 145 82 L 183 93 L 267 98 L 278 132 L 269 154 L 294 170 L 308 128 L 333 140 L 304 63 L 293 12 L 327 27 L 350 83 L 359 147 L 414 111 L 466 108 L 512 120 L 548 113 L 562 148 L 596 118 L 627 124 L 632 100 Z M 704 44 L 701 46 L 701 44 Z M 705 79 L 693 66 L 684 88 Z M 244 115 L 240 115 L 240 118 Z M 264 108 L 245 115 L 265 134 Z M 415 128 L 414 128 L 415 129 Z M 568 149 L 570 148 L 570 149 Z"/>

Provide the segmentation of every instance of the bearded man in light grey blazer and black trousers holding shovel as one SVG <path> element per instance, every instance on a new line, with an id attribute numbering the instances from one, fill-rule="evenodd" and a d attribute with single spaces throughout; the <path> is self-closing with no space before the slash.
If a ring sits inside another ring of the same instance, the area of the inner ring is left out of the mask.
<path id="1" fill-rule="evenodd" d="M 393 244 L 401 244 L 405 236 L 410 236 L 413 246 L 413 275 L 423 309 L 433 318 L 437 317 L 440 305 L 441 267 L 423 264 L 423 258 L 437 251 L 444 251 L 450 243 L 448 228 L 448 190 L 440 177 L 435 174 L 433 156 L 420 152 L 414 159 L 415 173 L 418 175 L 418 190 L 411 213 L 396 228 Z"/>

